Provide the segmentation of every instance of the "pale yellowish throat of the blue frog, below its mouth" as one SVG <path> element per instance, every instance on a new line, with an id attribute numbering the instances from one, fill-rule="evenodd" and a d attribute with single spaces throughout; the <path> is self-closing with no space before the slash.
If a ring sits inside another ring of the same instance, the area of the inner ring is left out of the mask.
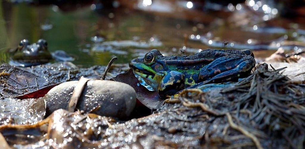
<path id="1" fill-rule="evenodd" d="M 134 71 L 134 72 L 135 72 L 135 74 L 137 74 L 140 77 L 142 77 L 144 79 L 144 81 L 146 82 L 146 84 L 151 86 L 155 91 L 158 91 L 158 86 L 159 86 L 161 80 L 164 77 L 163 74 L 160 74 L 160 73 L 156 73 L 156 74 L 144 74 L 144 73 L 141 73 L 139 71 Z"/>

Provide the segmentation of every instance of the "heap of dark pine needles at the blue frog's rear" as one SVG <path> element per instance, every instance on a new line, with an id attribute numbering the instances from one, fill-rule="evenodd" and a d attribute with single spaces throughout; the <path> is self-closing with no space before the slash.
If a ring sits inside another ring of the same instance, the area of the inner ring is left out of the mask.
<path id="1" fill-rule="evenodd" d="M 292 81 L 279 72 L 285 68 L 268 71 L 267 64 L 261 64 L 251 76 L 234 87 L 222 92 L 239 91 L 235 107 L 239 113 L 247 109 L 249 119 L 259 130 L 265 130 L 270 137 L 282 136 L 290 147 L 302 148 L 304 143 L 304 99 L 305 82 Z M 250 116 L 251 115 L 251 116 Z"/>

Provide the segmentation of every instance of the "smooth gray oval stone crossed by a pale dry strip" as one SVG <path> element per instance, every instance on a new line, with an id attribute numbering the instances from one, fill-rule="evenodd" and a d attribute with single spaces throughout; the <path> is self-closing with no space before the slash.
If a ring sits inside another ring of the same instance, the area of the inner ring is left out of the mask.
<path id="1" fill-rule="evenodd" d="M 42 97 L 47 103 L 47 115 L 57 109 L 68 109 L 69 99 L 77 82 L 62 83 Z M 117 81 L 90 80 L 83 89 L 76 109 L 87 113 L 100 105 L 101 107 L 92 113 L 126 119 L 134 109 L 135 103 L 135 90 L 130 85 Z"/>

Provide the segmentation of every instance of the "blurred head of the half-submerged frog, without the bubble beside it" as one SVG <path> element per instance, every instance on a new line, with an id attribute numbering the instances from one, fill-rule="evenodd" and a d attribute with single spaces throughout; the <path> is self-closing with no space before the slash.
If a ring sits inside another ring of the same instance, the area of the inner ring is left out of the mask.
<path id="1" fill-rule="evenodd" d="M 52 55 L 48 51 L 48 43 L 40 39 L 37 43 L 30 44 L 28 40 L 21 40 L 16 52 L 12 56 L 13 61 L 26 65 L 39 65 L 48 63 Z"/>

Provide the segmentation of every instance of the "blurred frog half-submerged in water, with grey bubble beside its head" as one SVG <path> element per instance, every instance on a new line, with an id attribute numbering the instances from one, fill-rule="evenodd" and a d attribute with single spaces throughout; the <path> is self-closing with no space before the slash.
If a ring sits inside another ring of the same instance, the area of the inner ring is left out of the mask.
<path id="1" fill-rule="evenodd" d="M 53 58 L 58 61 L 73 61 L 66 52 L 57 50 L 52 54 L 48 51 L 46 40 L 40 39 L 37 43 L 30 44 L 28 40 L 21 40 L 18 47 L 11 51 L 13 53 L 9 64 L 21 67 L 30 67 L 50 62 Z"/>

